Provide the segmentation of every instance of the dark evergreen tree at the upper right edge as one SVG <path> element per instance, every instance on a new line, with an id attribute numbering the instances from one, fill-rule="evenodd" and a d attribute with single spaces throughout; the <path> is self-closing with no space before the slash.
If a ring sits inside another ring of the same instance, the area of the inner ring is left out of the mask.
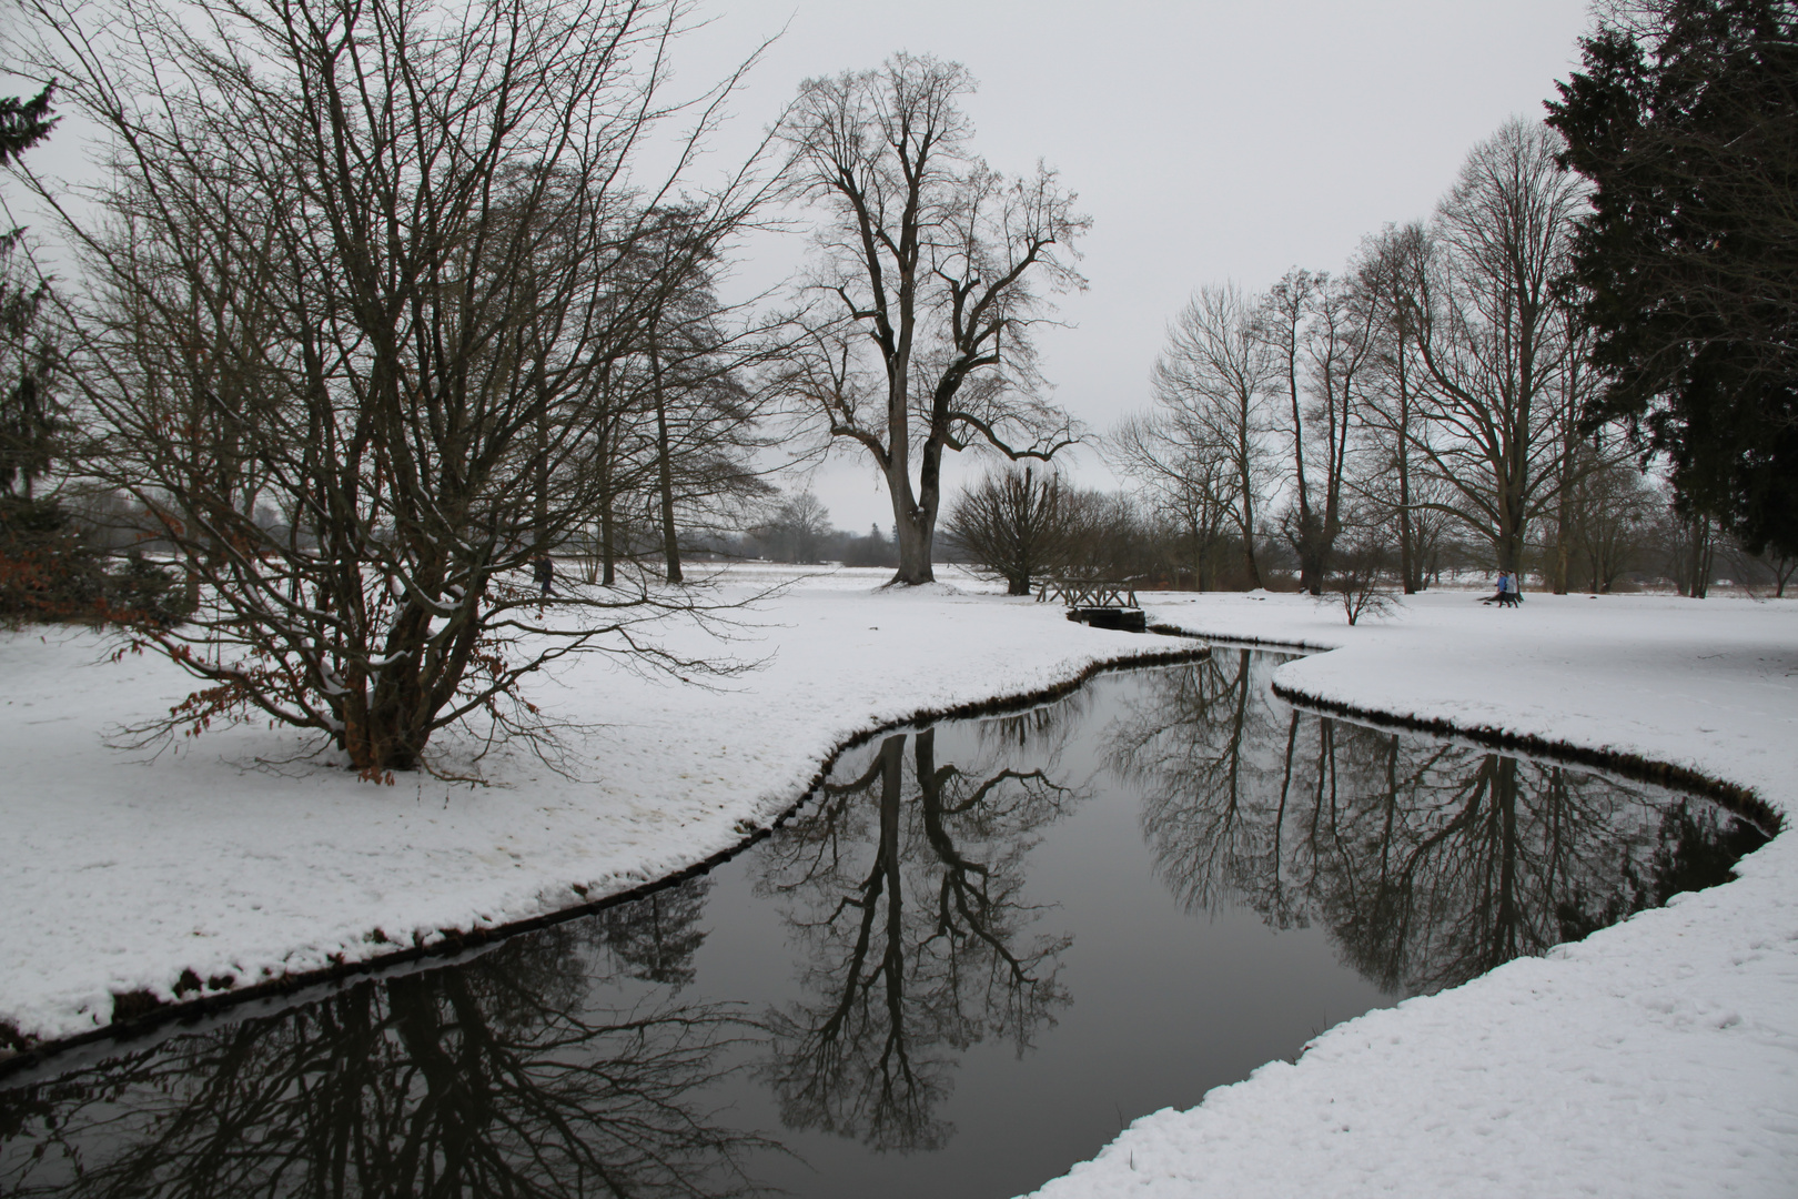
<path id="1" fill-rule="evenodd" d="M 1798 548 L 1798 5 L 1656 0 L 1582 40 L 1561 160 L 1593 183 L 1571 282 L 1683 511 Z"/>

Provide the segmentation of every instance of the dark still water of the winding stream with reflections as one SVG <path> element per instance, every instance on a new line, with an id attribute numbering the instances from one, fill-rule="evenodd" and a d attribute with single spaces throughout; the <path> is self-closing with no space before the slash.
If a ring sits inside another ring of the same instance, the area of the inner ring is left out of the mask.
<path id="1" fill-rule="evenodd" d="M 0 1086 L 4 1195 L 969 1195 L 1764 836 L 1300 714 L 1273 654 L 845 755 L 710 877 Z"/>

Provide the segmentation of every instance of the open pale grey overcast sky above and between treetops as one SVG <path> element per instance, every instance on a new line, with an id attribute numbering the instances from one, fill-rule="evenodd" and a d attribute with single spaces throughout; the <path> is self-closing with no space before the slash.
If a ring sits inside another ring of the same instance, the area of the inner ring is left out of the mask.
<path id="1" fill-rule="evenodd" d="M 719 156 L 809 75 L 894 50 L 967 65 L 975 149 L 1014 174 L 1043 158 L 1093 218 L 1091 286 L 1039 343 L 1055 397 L 1099 431 L 1149 403 L 1167 320 L 1194 288 L 1334 270 L 1386 221 L 1426 218 L 1474 142 L 1541 117 L 1588 20 L 1584 0 L 710 0 L 698 14 L 710 20 L 676 49 L 678 84 L 786 29 Z M 806 244 L 753 252 L 744 275 L 762 282 Z M 1111 484 L 1090 458 L 1077 467 Z M 892 521 L 872 467 L 836 464 L 814 489 L 838 527 Z"/>

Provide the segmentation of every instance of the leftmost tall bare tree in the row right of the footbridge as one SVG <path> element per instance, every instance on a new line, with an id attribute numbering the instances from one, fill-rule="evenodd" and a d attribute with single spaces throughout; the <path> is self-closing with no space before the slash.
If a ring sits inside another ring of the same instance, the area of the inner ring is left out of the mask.
<path id="1" fill-rule="evenodd" d="M 1190 453 L 1194 469 L 1210 458 L 1228 466 L 1230 521 L 1242 541 L 1250 586 L 1260 586 L 1255 561 L 1257 507 L 1266 491 L 1268 388 L 1277 363 L 1251 325 L 1235 284 L 1194 293 L 1167 331 L 1154 363 L 1160 437 Z"/>

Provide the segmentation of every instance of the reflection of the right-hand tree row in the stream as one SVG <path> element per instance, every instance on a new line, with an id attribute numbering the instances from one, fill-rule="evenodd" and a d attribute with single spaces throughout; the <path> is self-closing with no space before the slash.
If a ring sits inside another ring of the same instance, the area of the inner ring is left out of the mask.
<path id="1" fill-rule="evenodd" d="M 1109 733 L 1188 906 L 1320 922 L 1386 992 L 1429 992 L 1730 877 L 1766 839 L 1699 800 L 1293 710 L 1280 662 L 1153 674 Z"/>

